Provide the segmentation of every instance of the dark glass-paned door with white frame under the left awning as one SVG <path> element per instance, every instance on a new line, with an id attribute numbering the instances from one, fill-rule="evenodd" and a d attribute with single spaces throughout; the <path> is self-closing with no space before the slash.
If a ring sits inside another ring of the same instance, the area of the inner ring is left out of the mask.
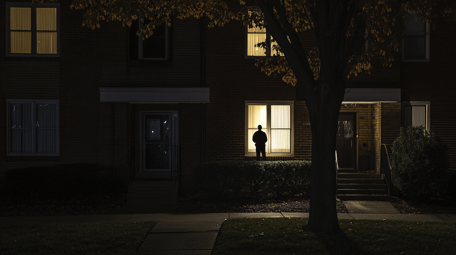
<path id="1" fill-rule="evenodd" d="M 142 170 L 148 172 L 166 172 L 170 174 L 169 177 L 171 179 L 174 179 L 178 165 L 177 113 L 144 113 L 143 120 Z"/>

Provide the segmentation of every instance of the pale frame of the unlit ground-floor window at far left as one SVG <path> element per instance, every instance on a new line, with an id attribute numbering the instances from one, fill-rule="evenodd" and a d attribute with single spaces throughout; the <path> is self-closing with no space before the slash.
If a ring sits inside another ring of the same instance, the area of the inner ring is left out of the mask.
<path id="1" fill-rule="evenodd" d="M 10 146 L 10 105 L 13 103 L 31 103 L 31 153 L 12 153 Z M 55 153 L 37 153 L 36 152 L 36 104 L 37 103 L 57 103 L 57 116 L 56 116 L 56 146 Z M 60 103 L 59 100 L 31 100 L 31 99 L 7 99 L 6 100 L 6 156 L 59 156 L 60 155 Z"/>

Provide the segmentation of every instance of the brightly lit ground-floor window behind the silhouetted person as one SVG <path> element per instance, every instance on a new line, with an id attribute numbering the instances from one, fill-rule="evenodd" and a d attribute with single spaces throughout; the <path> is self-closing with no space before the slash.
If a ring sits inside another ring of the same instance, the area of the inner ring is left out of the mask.
<path id="1" fill-rule="evenodd" d="M 266 153 L 292 153 L 293 103 L 259 102 L 246 103 L 246 153 L 255 153 L 252 141 L 258 125 L 268 136 Z"/>

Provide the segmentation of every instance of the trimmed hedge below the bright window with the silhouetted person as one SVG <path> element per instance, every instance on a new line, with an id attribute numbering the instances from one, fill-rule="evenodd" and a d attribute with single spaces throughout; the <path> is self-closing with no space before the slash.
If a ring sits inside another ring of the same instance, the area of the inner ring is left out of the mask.
<path id="1" fill-rule="evenodd" d="M 196 168 L 198 188 L 214 195 L 226 190 L 308 194 L 310 161 L 212 161 Z"/>

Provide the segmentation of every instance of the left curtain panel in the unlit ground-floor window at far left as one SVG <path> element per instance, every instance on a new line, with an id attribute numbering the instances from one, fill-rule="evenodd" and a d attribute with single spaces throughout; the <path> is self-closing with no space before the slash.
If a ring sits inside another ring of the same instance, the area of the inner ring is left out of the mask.
<path id="1" fill-rule="evenodd" d="M 31 103 L 10 104 L 10 150 L 31 152 Z"/>

